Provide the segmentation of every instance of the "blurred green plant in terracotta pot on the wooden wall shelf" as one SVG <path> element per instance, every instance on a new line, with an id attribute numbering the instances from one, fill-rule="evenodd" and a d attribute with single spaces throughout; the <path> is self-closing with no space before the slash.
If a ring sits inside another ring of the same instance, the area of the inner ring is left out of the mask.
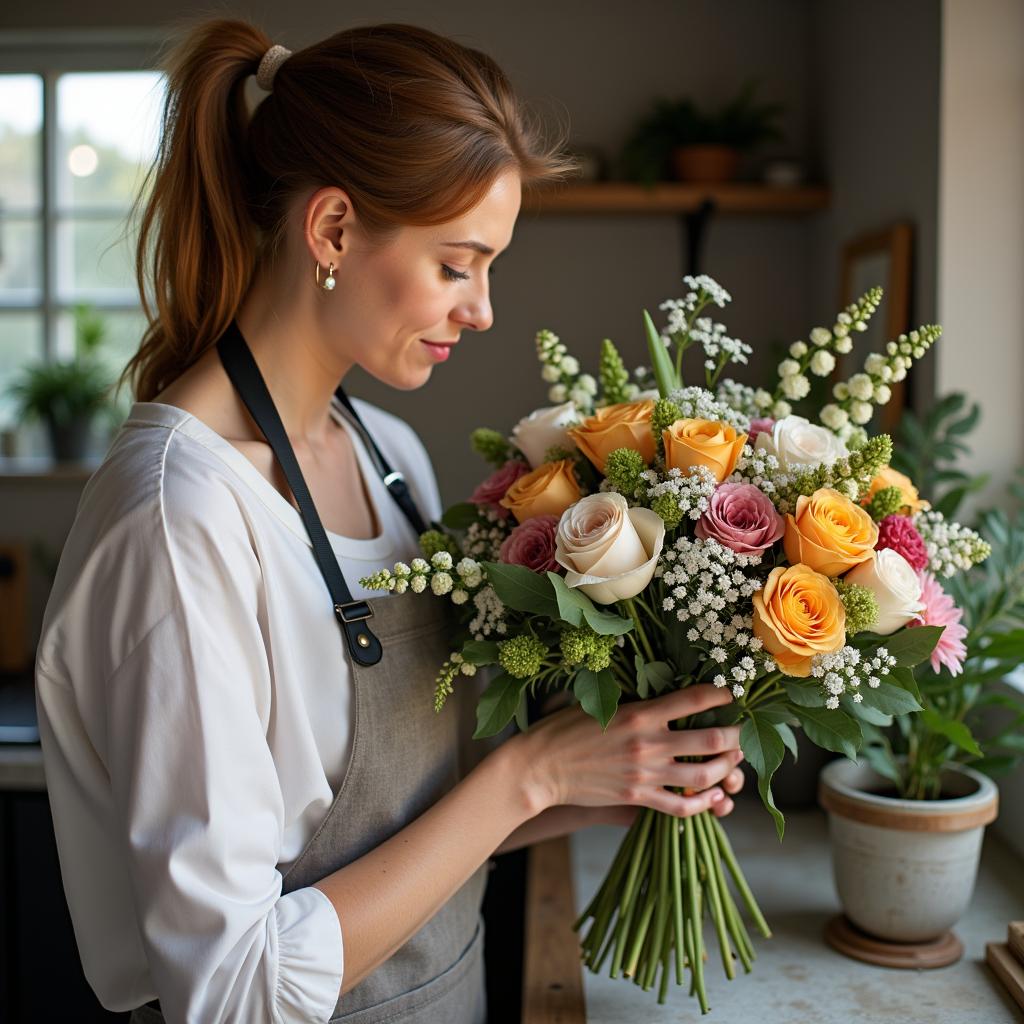
<path id="1" fill-rule="evenodd" d="M 739 158 L 762 142 L 781 138 L 776 120 L 780 103 L 758 103 L 757 82 L 748 80 L 736 96 L 716 112 L 701 112 L 688 98 L 656 99 L 623 153 L 628 178 L 652 183 L 728 181 Z"/>

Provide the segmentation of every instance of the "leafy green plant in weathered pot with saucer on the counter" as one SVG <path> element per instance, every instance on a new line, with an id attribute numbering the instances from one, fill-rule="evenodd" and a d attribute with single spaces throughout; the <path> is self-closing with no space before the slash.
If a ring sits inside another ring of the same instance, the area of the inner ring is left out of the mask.
<path id="1" fill-rule="evenodd" d="M 963 437 L 978 419 L 963 395 L 938 402 L 924 420 L 904 414 L 896 451 L 925 493 L 899 485 L 924 534 L 930 568 L 945 549 L 955 558 L 969 537 L 942 526 L 984 483 L 955 469 Z M 893 477 L 893 480 L 897 478 Z M 940 495 L 940 490 L 942 492 Z M 991 546 L 981 564 L 954 579 L 923 574 L 924 622 L 942 626 L 931 657 L 913 670 L 921 711 L 862 712 L 863 763 L 836 761 L 821 773 L 829 814 L 837 888 L 847 922 L 829 925 L 844 952 L 889 966 L 939 967 L 963 952 L 949 929 L 974 889 L 984 826 L 997 812 L 991 776 L 1024 754 L 1024 699 L 1002 680 L 1024 660 L 1024 482 L 1011 485 L 1016 509 L 981 513 L 977 527 Z M 907 517 L 909 518 L 909 517 Z M 895 527 L 906 529 L 904 523 Z M 907 530 L 908 541 L 912 537 Z M 868 939 L 867 937 L 871 937 Z M 873 940 L 882 940 L 872 941 Z"/>

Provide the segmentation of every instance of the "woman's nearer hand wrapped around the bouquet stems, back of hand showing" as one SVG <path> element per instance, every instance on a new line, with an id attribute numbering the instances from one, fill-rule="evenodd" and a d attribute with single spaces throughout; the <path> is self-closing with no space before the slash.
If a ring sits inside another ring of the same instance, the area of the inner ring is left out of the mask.
<path id="1" fill-rule="evenodd" d="M 650 807 L 677 817 L 732 809 L 742 760 L 738 726 L 670 729 L 676 719 L 729 703 L 732 694 L 707 683 L 623 705 L 607 730 L 581 708 L 566 708 L 504 744 L 519 759 L 527 799 L 548 807 Z M 680 762 L 678 757 L 707 757 Z M 675 794 L 674 786 L 688 793 Z"/>

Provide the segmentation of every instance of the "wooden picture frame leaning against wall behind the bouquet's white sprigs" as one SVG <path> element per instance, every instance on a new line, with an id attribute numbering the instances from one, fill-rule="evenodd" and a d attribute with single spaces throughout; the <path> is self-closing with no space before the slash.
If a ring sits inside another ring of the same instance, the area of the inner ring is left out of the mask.
<path id="1" fill-rule="evenodd" d="M 846 307 L 869 288 L 884 289 L 882 304 L 868 329 L 854 333 L 853 350 L 841 357 L 837 380 L 847 380 L 864 366 L 870 352 L 885 352 L 886 343 L 910 329 L 910 287 L 913 274 L 913 225 L 897 221 L 878 231 L 852 239 L 843 246 L 840 303 Z M 892 385 L 892 398 L 876 414 L 879 430 L 892 434 L 906 408 L 906 381 Z M 868 425 L 871 427 L 871 424 Z"/>

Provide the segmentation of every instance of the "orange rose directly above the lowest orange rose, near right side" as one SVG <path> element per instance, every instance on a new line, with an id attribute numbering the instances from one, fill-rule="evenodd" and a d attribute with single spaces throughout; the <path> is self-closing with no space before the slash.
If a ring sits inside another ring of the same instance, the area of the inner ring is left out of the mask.
<path id="1" fill-rule="evenodd" d="M 796 565 L 837 577 L 874 555 L 879 527 L 871 517 L 845 495 L 830 487 L 797 499 L 797 514 L 785 517 L 782 546 Z"/>

